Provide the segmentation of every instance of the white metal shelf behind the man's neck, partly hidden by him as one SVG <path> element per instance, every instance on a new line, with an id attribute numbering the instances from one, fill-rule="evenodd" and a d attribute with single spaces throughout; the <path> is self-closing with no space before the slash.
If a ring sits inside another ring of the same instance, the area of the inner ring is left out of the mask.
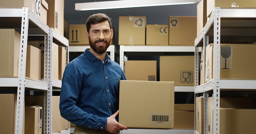
<path id="1" fill-rule="evenodd" d="M 84 52 L 87 48 L 90 48 L 90 45 L 70 45 L 69 52 Z M 115 61 L 115 53 L 117 53 L 115 45 L 109 45 L 107 52 L 110 52 L 110 59 Z"/>

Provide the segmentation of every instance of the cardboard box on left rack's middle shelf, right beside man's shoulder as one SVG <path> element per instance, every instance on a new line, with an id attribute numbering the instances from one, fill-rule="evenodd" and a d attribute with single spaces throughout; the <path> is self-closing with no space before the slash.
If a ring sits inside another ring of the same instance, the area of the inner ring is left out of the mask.
<path id="1" fill-rule="evenodd" d="M 58 47 L 58 79 L 62 80 L 67 65 L 67 50 L 65 47 Z"/>

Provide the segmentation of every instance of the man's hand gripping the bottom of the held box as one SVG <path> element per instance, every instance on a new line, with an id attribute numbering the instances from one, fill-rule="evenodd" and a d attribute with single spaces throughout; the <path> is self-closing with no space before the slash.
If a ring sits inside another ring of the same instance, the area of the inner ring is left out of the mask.
<path id="1" fill-rule="evenodd" d="M 115 112 L 115 114 L 111 115 L 110 117 L 108 117 L 108 121 L 107 121 L 107 127 L 106 127 L 106 131 L 110 132 L 110 133 L 117 133 L 120 130 L 127 130 L 128 128 L 124 125 L 121 125 L 120 123 L 118 123 L 115 119 L 115 117 L 119 114 L 119 110 L 117 110 L 117 112 Z"/>

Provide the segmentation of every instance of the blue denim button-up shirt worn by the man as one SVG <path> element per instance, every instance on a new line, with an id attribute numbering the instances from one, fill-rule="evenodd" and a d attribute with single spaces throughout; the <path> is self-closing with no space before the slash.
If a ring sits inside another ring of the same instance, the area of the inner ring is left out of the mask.
<path id="1" fill-rule="evenodd" d="M 86 49 L 65 68 L 61 116 L 85 128 L 104 130 L 107 118 L 119 109 L 119 80 L 126 80 L 124 72 L 107 53 L 103 63 Z"/>

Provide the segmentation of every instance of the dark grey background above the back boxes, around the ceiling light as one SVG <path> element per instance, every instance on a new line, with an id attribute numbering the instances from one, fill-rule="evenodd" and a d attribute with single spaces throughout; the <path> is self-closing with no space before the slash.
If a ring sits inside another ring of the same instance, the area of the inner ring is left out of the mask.
<path id="1" fill-rule="evenodd" d="M 115 35 L 118 35 L 119 16 L 146 16 L 147 24 L 168 24 L 169 16 L 196 16 L 197 4 L 137 7 L 128 9 L 105 9 L 94 11 L 76 11 L 75 3 L 100 2 L 110 0 L 64 0 L 64 19 L 67 24 L 85 24 L 88 16 L 94 13 L 106 13 L 112 18 Z M 115 42 L 118 41 L 115 38 Z"/>

